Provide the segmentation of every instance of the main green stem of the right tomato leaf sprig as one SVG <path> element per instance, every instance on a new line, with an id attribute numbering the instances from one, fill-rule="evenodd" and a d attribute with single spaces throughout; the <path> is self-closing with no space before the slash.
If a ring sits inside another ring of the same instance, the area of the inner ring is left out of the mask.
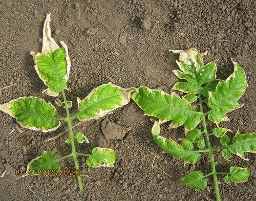
<path id="1" fill-rule="evenodd" d="M 219 185 L 218 185 L 217 172 L 216 172 L 216 168 L 215 168 L 214 154 L 212 153 L 212 147 L 210 145 L 210 139 L 209 139 L 209 135 L 208 135 L 207 127 L 206 127 L 205 115 L 204 115 L 204 111 L 203 111 L 203 105 L 202 105 L 202 100 L 201 100 L 200 94 L 199 94 L 198 98 L 199 98 L 200 111 L 202 114 L 202 123 L 203 123 L 204 132 L 205 132 L 204 133 L 205 140 L 206 140 L 206 144 L 207 144 L 207 147 L 209 150 L 209 158 L 210 158 L 210 165 L 211 165 L 211 169 L 212 169 L 212 177 L 214 177 L 215 196 L 216 196 L 216 200 L 220 201 L 221 197 L 220 197 L 220 191 L 219 191 Z"/>

